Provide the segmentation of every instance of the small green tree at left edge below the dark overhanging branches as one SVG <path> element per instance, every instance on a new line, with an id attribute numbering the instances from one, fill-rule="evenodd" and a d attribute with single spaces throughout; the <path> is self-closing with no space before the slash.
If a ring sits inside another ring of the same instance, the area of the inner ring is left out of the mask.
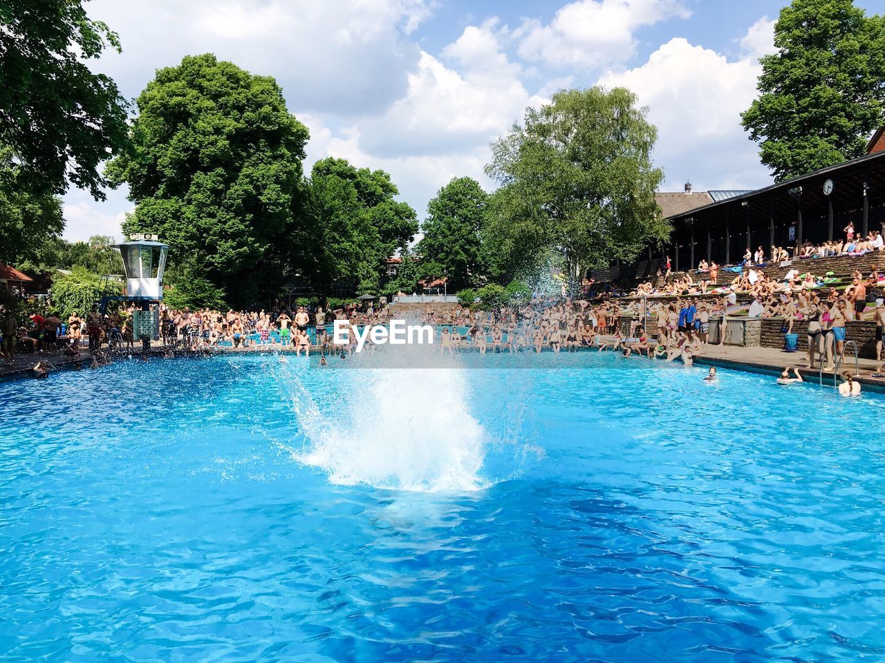
<path id="1" fill-rule="evenodd" d="M 0 263 L 34 260 L 65 228 L 61 199 L 32 192 L 23 179 L 27 173 L 14 162 L 12 149 L 0 149 Z"/>

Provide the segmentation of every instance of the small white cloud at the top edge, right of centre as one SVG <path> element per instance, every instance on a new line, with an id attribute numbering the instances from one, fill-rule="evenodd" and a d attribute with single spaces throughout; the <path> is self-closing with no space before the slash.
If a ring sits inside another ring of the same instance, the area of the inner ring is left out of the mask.
<path id="1" fill-rule="evenodd" d="M 527 60 L 602 67 L 634 55 L 637 28 L 689 15 L 681 0 L 577 0 L 560 8 L 547 25 L 527 19 L 513 36 Z"/>

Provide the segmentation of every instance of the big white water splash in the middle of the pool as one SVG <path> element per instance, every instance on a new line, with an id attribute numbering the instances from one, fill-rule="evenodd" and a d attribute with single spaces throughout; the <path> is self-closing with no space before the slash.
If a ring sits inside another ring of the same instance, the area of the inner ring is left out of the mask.
<path id="1" fill-rule="evenodd" d="M 289 375 L 306 438 L 293 453 L 297 461 L 322 469 L 333 484 L 471 492 L 493 483 L 482 476 L 491 440 L 469 412 L 465 369 L 345 370 L 338 377 L 333 416 Z"/>

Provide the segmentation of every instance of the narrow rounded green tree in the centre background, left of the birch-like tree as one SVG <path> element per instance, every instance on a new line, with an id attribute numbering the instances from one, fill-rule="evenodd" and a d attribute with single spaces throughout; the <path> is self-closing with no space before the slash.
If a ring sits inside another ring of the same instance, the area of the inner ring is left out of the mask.
<path id="1" fill-rule="evenodd" d="M 482 272 L 481 231 L 489 194 L 472 178 L 452 179 L 427 203 L 419 242 L 422 271 L 446 277 L 452 290 L 473 285 Z"/>

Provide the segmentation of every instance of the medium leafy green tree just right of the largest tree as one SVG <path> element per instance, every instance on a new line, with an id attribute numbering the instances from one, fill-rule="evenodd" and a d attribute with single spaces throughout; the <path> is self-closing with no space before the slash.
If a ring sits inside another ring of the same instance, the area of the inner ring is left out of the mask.
<path id="1" fill-rule="evenodd" d="M 418 232 L 415 210 L 394 200 L 398 191 L 387 172 L 358 169 L 345 159 L 313 164 L 307 188 L 314 232 L 305 263 L 319 290 L 377 292 L 385 259 Z"/>

